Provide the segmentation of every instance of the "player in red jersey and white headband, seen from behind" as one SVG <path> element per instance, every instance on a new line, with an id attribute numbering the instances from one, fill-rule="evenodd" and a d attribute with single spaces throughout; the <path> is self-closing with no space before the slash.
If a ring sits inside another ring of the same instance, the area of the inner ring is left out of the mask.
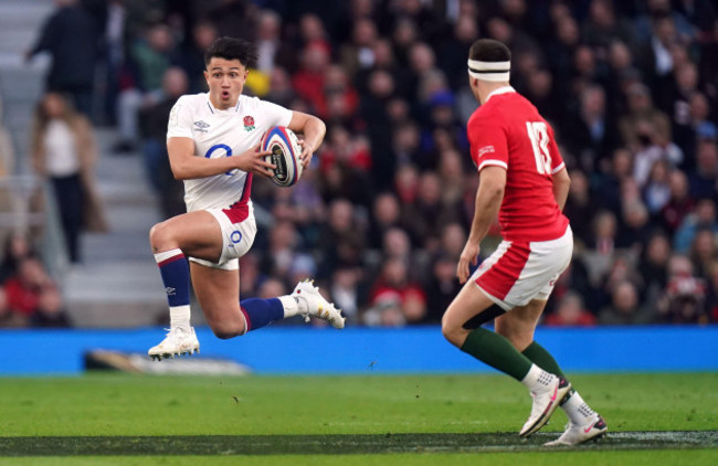
<path id="1" fill-rule="evenodd" d="M 442 331 L 462 351 L 530 391 L 534 406 L 519 435 L 540 430 L 561 405 L 568 428 L 547 445 L 576 445 L 603 435 L 606 424 L 534 341 L 556 279 L 571 261 L 573 236 L 561 213 L 570 179 L 550 125 L 509 85 L 510 57 L 506 45 L 488 39 L 469 50 L 469 84 L 481 106 L 467 133 L 479 187 L 456 268 L 465 285 L 446 309 Z M 471 274 L 496 215 L 504 241 Z M 482 328 L 490 320 L 495 332 Z"/>

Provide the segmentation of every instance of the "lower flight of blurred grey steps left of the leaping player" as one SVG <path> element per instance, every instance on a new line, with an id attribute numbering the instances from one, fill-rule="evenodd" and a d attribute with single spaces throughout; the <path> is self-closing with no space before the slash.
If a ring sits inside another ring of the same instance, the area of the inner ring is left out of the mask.
<path id="1" fill-rule="evenodd" d="M 97 187 L 107 233 L 85 233 L 83 264 L 65 277 L 68 308 L 82 327 L 152 325 L 167 313 L 147 234 L 160 220 L 138 153 L 113 156 L 113 130 L 97 130 Z"/>

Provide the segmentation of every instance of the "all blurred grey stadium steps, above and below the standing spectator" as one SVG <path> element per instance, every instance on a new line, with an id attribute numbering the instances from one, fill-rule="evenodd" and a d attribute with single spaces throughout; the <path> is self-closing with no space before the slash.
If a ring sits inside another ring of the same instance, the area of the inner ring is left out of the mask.
<path id="1" fill-rule="evenodd" d="M 52 11 L 51 0 L 0 0 L 1 121 L 13 138 L 18 173 L 30 171 L 32 113 L 50 63 L 38 56 L 25 64 L 22 55 Z M 156 197 L 145 180 L 139 155 L 114 157 L 109 151 L 114 131 L 101 129 L 96 136 L 101 148 L 97 188 L 110 231 L 84 234 L 84 263 L 68 266 L 57 278 L 78 327 L 152 325 L 167 313 L 147 241 L 149 227 L 159 220 Z"/>

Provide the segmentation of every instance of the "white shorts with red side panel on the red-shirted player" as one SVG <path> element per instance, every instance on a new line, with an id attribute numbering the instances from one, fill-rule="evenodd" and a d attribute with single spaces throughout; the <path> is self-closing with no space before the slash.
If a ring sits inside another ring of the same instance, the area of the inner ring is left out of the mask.
<path id="1" fill-rule="evenodd" d="M 571 226 L 557 240 L 501 241 L 471 279 L 501 309 L 510 310 L 532 299 L 548 299 L 572 253 Z"/>

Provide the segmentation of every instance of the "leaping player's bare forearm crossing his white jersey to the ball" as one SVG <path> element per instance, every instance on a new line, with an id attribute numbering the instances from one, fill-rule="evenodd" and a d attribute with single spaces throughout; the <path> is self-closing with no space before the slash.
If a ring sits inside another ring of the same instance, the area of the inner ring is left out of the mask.
<path id="1" fill-rule="evenodd" d="M 167 141 L 170 167 L 177 180 L 213 177 L 234 169 L 271 177 L 272 171 L 270 169 L 275 167 L 266 162 L 264 157 L 272 152 L 267 150 L 261 151 L 258 148 L 260 146 L 256 145 L 239 156 L 208 159 L 194 157 L 194 141 L 190 138 L 176 137 L 169 138 Z"/>

